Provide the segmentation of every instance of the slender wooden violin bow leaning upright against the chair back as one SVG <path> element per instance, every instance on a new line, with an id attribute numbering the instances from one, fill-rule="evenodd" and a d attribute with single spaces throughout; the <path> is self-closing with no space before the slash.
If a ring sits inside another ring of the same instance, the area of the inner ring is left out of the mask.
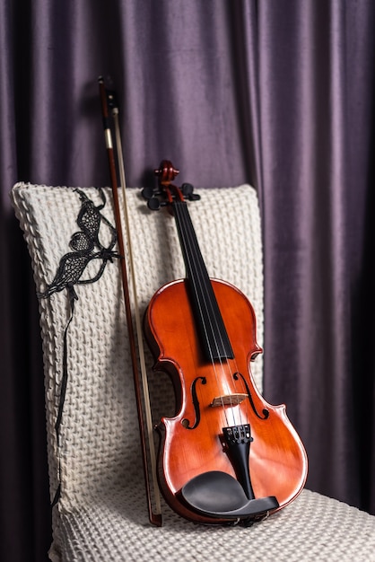
<path id="1" fill-rule="evenodd" d="M 156 454 L 155 454 L 154 443 L 153 443 L 153 421 L 152 421 L 152 414 L 151 414 L 150 396 L 149 396 L 148 384 L 147 384 L 147 373 L 146 373 L 145 359 L 144 359 L 144 340 L 142 336 L 141 320 L 140 320 L 138 301 L 136 295 L 135 267 L 134 267 L 129 220 L 128 220 L 128 213 L 127 213 L 127 206 L 126 206 L 125 167 L 124 167 L 124 160 L 122 155 L 121 135 L 118 125 L 118 104 L 116 101 L 116 96 L 112 93 L 109 94 L 109 92 L 106 90 L 106 87 L 104 85 L 104 80 L 101 76 L 98 82 L 99 82 L 99 89 L 100 89 L 100 101 L 101 101 L 101 111 L 103 117 L 104 137 L 105 137 L 107 155 L 109 160 L 110 185 L 113 195 L 116 228 L 118 231 L 118 250 L 121 256 L 119 262 L 121 268 L 121 279 L 122 279 L 122 287 L 123 287 L 123 294 L 124 294 L 124 301 L 125 301 L 126 324 L 127 324 L 127 331 L 128 331 L 129 344 L 130 344 L 130 356 L 132 361 L 133 378 L 135 382 L 135 401 L 136 401 L 136 408 L 137 408 L 139 433 L 141 438 L 142 460 L 144 464 L 144 482 L 145 482 L 145 489 L 146 489 L 146 496 L 147 496 L 147 506 L 148 506 L 150 522 L 152 522 L 154 525 L 158 527 L 161 527 L 161 523 L 162 523 L 161 499 L 160 499 L 159 487 L 157 484 L 157 477 L 156 477 Z M 136 334 L 138 340 L 138 349 L 139 349 L 142 377 L 140 377 L 139 370 L 138 370 L 138 361 L 137 361 L 136 345 L 135 345 L 135 332 L 133 328 L 133 319 L 132 319 L 132 312 L 130 307 L 130 292 L 129 292 L 127 273 L 126 273 L 125 243 L 124 243 L 123 228 L 121 223 L 120 205 L 118 200 L 118 178 L 117 178 L 117 171 L 116 171 L 114 147 L 112 142 L 112 132 L 109 123 L 109 99 L 108 99 L 109 96 L 112 105 L 112 117 L 115 123 L 118 171 L 120 175 L 122 194 L 123 194 L 123 211 L 124 211 L 124 218 L 126 224 L 126 243 L 127 243 L 128 257 L 129 257 L 129 269 L 131 272 L 133 293 L 135 296 L 134 299 L 135 300 L 135 327 L 136 327 Z M 142 395 L 141 395 L 141 380 L 142 380 L 142 388 L 144 391 L 144 412 L 146 417 L 148 446 L 150 452 L 150 464 L 151 464 L 152 478 L 153 478 L 153 495 L 155 501 L 155 511 L 153 511 L 152 494 L 150 489 L 150 475 L 149 475 L 149 468 L 147 462 L 147 444 L 144 435 L 144 413 L 142 408 L 143 405 L 142 405 Z"/>

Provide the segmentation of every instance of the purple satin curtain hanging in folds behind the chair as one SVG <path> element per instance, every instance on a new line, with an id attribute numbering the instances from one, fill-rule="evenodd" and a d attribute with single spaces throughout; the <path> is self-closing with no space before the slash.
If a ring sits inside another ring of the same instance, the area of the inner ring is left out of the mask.
<path id="1" fill-rule="evenodd" d="M 38 303 L 8 192 L 108 185 L 97 78 L 127 182 L 251 182 L 265 249 L 265 397 L 308 487 L 375 513 L 372 0 L 0 3 L 0 558 L 50 540 Z M 235 257 L 233 257 L 234 259 Z"/>

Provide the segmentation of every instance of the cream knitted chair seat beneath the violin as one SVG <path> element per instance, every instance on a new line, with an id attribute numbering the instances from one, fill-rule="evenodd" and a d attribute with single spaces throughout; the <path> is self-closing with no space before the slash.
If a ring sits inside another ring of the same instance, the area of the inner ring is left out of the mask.
<path id="1" fill-rule="evenodd" d="M 212 562 L 212 560 L 375 560 L 375 517 L 304 489 L 291 505 L 252 527 L 209 527 L 163 507 L 163 526 L 148 523 L 143 482 L 99 495 L 61 514 L 62 562 Z"/>

